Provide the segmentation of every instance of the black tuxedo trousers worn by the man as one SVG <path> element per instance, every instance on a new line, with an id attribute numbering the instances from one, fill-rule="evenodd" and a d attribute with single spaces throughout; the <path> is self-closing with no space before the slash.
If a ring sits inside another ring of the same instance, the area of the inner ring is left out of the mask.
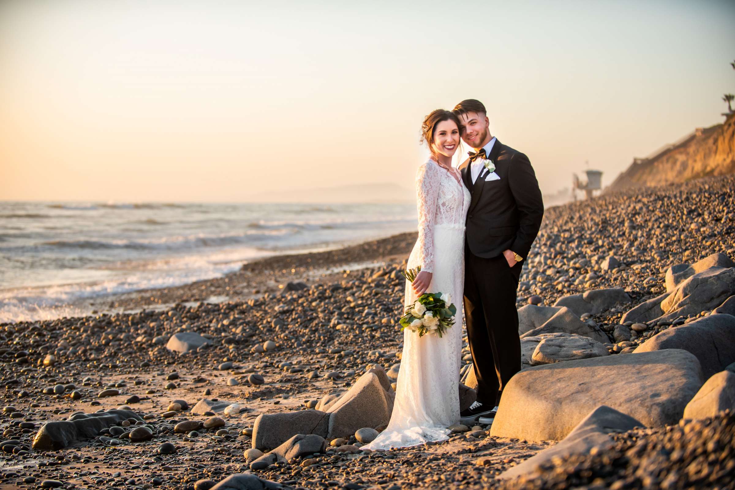
<path id="1" fill-rule="evenodd" d="M 497 406 L 503 388 L 520 371 L 515 308 L 523 263 L 510 267 L 503 255 L 477 257 L 465 245 L 465 318 L 478 382 L 477 399 Z"/>

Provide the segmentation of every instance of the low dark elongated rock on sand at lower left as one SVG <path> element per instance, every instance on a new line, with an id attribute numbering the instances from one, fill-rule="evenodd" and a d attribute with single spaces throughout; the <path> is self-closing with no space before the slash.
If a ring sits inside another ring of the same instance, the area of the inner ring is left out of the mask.
<path id="1" fill-rule="evenodd" d="M 94 439 L 102 429 L 128 419 L 143 420 L 140 415 L 130 410 L 73 414 L 69 420 L 57 420 L 43 424 L 33 438 L 32 447 L 37 451 L 57 451 L 88 439 Z"/>

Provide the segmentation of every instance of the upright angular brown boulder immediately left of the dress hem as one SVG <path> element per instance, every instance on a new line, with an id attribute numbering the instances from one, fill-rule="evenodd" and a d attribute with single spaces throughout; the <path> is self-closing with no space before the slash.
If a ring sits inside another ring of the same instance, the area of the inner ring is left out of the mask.
<path id="1" fill-rule="evenodd" d="M 359 428 L 387 425 L 394 399 L 395 392 L 382 367 L 370 368 L 327 409 L 327 437 L 343 437 L 354 434 Z"/>

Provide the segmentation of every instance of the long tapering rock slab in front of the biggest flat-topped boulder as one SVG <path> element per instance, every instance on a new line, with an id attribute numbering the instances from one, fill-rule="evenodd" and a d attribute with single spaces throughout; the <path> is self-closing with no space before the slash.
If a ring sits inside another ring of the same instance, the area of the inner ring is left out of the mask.
<path id="1" fill-rule="evenodd" d="M 545 464 L 553 458 L 566 458 L 575 454 L 587 454 L 592 447 L 607 449 L 612 447 L 612 438 L 608 435 L 616 432 L 630 431 L 642 427 L 642 423 L 609 406 L 601 405 L 592 410 L 587 417 L 571 431 L 562 442 L 542 450 L 516 466 L 506 469 L 499 478 L 505 480 L 517 478 L 534 472 L 539 464 Z"/>

